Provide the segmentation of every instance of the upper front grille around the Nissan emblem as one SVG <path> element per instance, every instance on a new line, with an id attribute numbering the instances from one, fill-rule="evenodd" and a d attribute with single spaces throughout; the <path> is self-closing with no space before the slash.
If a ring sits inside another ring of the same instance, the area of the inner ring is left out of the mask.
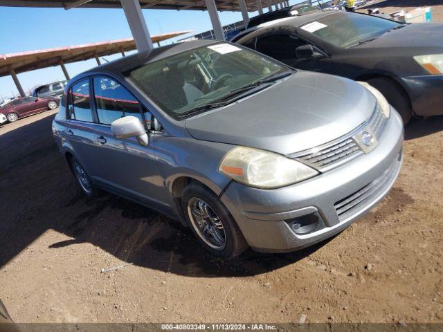
<path id="1" fill-rule="evenodd" d="M 361 154 L 370 152 L 377 146 L 377 140 L 383 132 L 386 120 L 383 111 L 381 111 L 377 104 L 369 120 L 351 133 L 325 145 L 320 145 L 314 149 L 293 154 L 289 157 L 300 160 L 302 163 L 314 167 L 320 172 L 326 172 L 329 169 L 347 163 Z M 365 131 L 371 133 L 375 139 L 371 148 L 359 143 L 361 142 L 361 133 Z"/>

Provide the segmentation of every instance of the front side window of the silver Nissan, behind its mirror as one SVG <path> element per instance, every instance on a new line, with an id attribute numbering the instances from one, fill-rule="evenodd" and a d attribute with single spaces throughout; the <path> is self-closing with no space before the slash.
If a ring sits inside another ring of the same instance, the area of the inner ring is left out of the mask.
<path id="1" fill-rule="evenodd" d="M 110 77 L 94 77 L 93 82 L 98 122 L 111 124 L 124 116 L 136 116 L 143 122 L 138 101 L 127 89 Z"/>

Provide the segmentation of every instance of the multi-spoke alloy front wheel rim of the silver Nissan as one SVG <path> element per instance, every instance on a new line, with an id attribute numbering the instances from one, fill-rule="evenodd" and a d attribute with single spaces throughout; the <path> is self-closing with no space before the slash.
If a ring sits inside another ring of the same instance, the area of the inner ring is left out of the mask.
<path id="1" fill-rule="evenodd" d="M 223 250 L 226 232 L 217 213 L 208 203 L 197 197 L 188 201 L 188 216 L 192 227 L 210 248 Z"/>

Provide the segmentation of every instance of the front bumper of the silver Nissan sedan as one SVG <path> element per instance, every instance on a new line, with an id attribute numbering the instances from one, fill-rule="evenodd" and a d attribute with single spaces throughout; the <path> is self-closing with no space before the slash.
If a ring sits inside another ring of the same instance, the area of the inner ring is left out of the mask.
<path id="1" fill-rule="evenodd" d="M 400 172 L 403 136 L 401 118 L 392 109 L 378 145 L 370 153 L 307 181 L 274 190 L 233 182 L 221 201 L 254 250 L 305 248 L 341 232 L 388 194 Z M 307 214 L 320 216 L 322 228 L 296 234 L 290 222 Z"/>

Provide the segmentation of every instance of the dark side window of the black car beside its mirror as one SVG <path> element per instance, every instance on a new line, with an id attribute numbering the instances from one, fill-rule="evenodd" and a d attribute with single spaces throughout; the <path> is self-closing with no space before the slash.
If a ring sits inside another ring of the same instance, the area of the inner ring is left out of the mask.
<path id="1" fill-rule="evenodd" d="M 297 37 L 284 34 L 269 35 L 257 40 L 257 50 L 275 59 L 295 59 L 296 48 L 306 43 Z"/>

